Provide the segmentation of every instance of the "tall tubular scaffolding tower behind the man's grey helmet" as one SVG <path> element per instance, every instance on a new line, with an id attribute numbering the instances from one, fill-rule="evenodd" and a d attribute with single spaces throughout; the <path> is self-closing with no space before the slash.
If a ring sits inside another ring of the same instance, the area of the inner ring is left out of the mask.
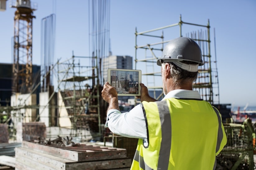
<path id="1" fill-rule="evenodd" d="M 215 88 L 219 88 L 218 86 L 218 75 L 217 75 L 217 64 L 216 57 L 215 61 L 211 56 L 211 48 L 210 48 L 210 25 L 209 20 L 207 25 L 200 25 L 194 23 L 187 23 L 181 20 L 178 23 L 174 23 L 171 25 L 167 25 L 161 28 L 155 28 L 152 30 L 137 32 L 137 28 L 135 30 L 135 69 L 141 68 L 142 62 L 145 63 L 144 72 L 142 74 L 142 81 L 146 82 L 146 86 L 148 86 L 149 90 L 154 91 L 154 98 L 157 100 L 163 97 L 163 92 L 160 96 L 155 96 L 156 90 L 162 90 L 162 84 L 157 84 L 156 82 L 162 82 L 161 72 L 158 68 L 154 68 L 156 66 L 157 59 L 161 57 L 161 53 L 163 47 L 166 43 L 168 43 L 171 39 L 176 38 L 177 34 L 175 32 L 179 32 L 179 36 L 182 37 L 182 29 L 186 26 L 185 31 L 189 31 L 191 29 L 197 28 L 199 31 L 194 31 L 190 33 L 186 33 L 185 36 L 190 37 L 194 41 L 198 43 L 202 50 L 202 57 L 204 65 L 199 67 L 199 74 L 196 82 L 193 83 L 193 89 L 198 90 L 201 94 L 203 100 L 208 101 L 211 104 L 219 104 L 219 93 L 217 91 L 213 91 Z M 163 30 L 171 28 L 171 30 L 167 30 L 168 40 L 164 40 Z M 204 30 L 203 30 L 204 29 Z M 158 40 L 156 42 L 156 40 Z M 138 42 L 142 45 L 138 45 Z M 144 54 L 143 54 L 144 51 Z M 159 71 L 155 71 L 159 70 Z"/>

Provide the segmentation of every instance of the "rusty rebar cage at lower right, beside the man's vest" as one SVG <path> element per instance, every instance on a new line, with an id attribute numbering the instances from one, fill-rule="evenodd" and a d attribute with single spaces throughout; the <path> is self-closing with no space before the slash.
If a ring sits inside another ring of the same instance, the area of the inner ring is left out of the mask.
<path id="1" fill-rule="evenodd" d="M 216 170 L 254 169 L 255 131 L 251 120 L 223 124 L 227 143 L 217 155 Z"/>

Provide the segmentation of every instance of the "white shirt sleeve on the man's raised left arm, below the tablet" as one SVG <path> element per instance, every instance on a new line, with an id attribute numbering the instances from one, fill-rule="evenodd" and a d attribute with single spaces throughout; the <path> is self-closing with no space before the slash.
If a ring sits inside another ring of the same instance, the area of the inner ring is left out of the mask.
<path id="1" fill-rule="evenodd" d="M 129 138 L 147 139 L 146 122 L 141 104 L 125 113 L 121 113 L 117 109 L 110 109 L 107 112 L 105 126 L 114 134 Z"/>

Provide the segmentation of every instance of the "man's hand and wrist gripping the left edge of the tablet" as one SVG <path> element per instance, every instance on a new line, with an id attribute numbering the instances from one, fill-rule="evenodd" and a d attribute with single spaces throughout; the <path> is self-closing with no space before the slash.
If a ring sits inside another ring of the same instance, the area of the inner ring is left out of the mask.
<path id="1" fill-rule="evenodd" d="M 103 90 L 101 91 L 101 96 L 103 97 L 103 100 L 105 100 L 107 103 L 109 103 L 108 109 L 117 109 L 119 110 L 118 106 L 118 97 L 117 97 L 117 91 L 114 87 L 112 87 L 108 82 L 104 84 Z"/>

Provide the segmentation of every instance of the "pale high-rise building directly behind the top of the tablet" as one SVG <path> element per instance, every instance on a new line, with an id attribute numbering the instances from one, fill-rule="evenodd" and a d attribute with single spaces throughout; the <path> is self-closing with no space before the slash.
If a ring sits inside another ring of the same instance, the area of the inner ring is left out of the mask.
<path id="1" fill-rule="evenodd" d="M 132 57 L 111 55 L 103 58 L 103 82 L 107 81 L 107 69 L 132 69 Z"/>

